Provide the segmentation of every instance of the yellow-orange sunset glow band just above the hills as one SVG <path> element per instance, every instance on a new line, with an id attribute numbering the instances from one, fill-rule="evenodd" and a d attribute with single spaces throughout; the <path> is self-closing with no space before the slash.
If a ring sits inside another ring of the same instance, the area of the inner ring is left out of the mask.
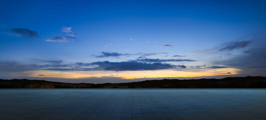
<path id="1" fill-rule="evenodd" d="M 28 76 L 33 77 L 55 77 L 55 78 L 87 78 L 87 77 L 102 77 L 113 76 L 122 79 L 133 78 L 156 78 L 156 77 L 198 77 L 198 76 L 216 76 L 225 75 L 227 72 L 231 74 L 239 74 L 241 69 L 237 68 L 219 68 L 219 69 L 202 69 L 195 71 L 195 69 L 183 69 L 177 71 L 173 69 L 166 70 L 145 70 L 145 71 L 51 71 L 51 70 L 37 70 L 27 71 Z M 44 74 L 44 76 L 38 76 Z"/>

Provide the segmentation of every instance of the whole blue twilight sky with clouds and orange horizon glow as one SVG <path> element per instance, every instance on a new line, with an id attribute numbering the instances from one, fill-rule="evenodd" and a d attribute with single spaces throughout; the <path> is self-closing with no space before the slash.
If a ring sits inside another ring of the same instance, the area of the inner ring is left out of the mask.
<path id="1" fill-rule="evenodd" d="M 0 78 L 266 76 L 264 0 L 1 0 Z"/>

